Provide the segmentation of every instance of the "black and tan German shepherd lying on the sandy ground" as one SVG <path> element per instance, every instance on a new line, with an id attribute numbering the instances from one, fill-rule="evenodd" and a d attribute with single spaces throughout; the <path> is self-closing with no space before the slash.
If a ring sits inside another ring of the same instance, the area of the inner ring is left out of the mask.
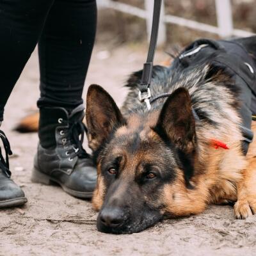
<path id="1" fill-rule="evenodd" d="M 236 42 L 256 56 L 256 36 Z M 150 110 L 138 100 L 141 71 L 129 78 L 122 109 L 99 85 L 88 89 L 99 231 L 140 232 L 163 218 L 199 214 L 208 204 L 225 202 L 236 202 L 236 218 L 256 213 L 256 144 L 244 156 L 239 90 L 226 67 L 211 60 L 194 64 L 154 67 L 152 95 L 170 95 Z"/>

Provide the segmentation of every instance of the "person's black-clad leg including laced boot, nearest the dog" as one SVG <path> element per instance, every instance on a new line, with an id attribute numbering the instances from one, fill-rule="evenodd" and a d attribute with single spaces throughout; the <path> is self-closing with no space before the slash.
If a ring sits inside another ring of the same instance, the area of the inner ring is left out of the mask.
<path id="1" fill-rule="evenodd" d="M 32 180 L 57 182 L 70 195 L 90 198 L 97 171 L 83 149 L 83 86 L 95 39 L 95 0 L 56 0 L 38 44 L 40 108 Z"/>

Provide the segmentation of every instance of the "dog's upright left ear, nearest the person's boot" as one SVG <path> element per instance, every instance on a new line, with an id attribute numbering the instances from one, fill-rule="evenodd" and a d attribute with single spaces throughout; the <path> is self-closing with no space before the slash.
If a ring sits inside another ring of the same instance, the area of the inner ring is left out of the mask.
<path id="1" fill-rule="evenodd" d="M 112 97 L 101 86 L 92 84 L 86 98 L 88 144 L 93 151 L 108 138 L 114 127 L 124 124 L 124 118 Z"/>

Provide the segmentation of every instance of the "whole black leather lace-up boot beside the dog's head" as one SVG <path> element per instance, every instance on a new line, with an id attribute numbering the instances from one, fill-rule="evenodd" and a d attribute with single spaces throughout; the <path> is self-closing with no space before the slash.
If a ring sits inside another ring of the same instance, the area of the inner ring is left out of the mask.
<path id="1" fill-rule="evenodd" d="M 33 182 L 58 183 L 65 192 L 79 198 L 91 198 L 97 170 L 83 148 L 84 107 L 71 113 L 64 108 L 41 108 L 38 151 Z"/>

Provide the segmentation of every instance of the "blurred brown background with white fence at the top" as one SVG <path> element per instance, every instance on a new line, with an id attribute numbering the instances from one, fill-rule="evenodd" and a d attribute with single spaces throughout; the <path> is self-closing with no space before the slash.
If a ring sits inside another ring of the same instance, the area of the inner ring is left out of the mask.
<path id="1" fill-rule="evenodd" d="M 119 45 L 147 40 L 153 0 L 97 3 L 98 41 Z M 198 37 L 227 38 L 256 32 L 256 0 L 163 0 L 161 14 L 159 40 L 167 48 L 188 44 Z"/>

